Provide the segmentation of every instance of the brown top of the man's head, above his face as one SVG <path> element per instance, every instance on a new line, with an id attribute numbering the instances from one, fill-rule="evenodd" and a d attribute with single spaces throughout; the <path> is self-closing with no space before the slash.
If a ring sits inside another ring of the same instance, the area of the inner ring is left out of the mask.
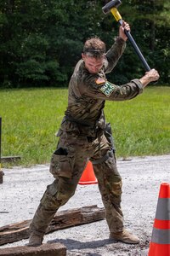
<path id="1" fill-rule="evenodd" d="M 97 37 L 89 38 L 84 44 L 83 53 L 94 58 L 101 58 L 105 55 L 105 43 Z"/>

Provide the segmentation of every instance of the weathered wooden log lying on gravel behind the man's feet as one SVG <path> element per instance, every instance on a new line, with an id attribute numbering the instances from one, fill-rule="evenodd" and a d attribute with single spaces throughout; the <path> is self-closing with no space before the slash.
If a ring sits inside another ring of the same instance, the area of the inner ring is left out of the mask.
<path id="1" fill-rule="evenodd" d="M 57 212 L 46 232 L 54 232 L 72 226 L 88 224 L 105 218 L 105 208 L 88 206 Z M 0 245 L 29 237 L 31 219 L 0 227 Z"/>

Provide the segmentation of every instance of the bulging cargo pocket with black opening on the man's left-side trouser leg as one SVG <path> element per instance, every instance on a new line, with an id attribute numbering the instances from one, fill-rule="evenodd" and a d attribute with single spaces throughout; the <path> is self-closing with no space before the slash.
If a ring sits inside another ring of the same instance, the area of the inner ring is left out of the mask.
<path id="1" fill-rule="evenodd" d="M 49 172 L 56 178 L 58 176 L 71 178 L 74 157 L 66 148 L 58 148 L 52 155 Z"/>

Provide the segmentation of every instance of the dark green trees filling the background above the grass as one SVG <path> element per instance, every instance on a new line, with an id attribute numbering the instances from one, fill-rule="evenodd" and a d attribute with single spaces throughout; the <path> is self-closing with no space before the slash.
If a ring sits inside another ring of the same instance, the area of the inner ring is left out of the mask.
<path id="1" fill-rule="evenodd" d="M 0 3 L 0 87 L 67 86 L 82 46 L 98 36 L 111 47 L 118 34 L 113 15 L 104 15 L 109 1 L 1 0 Z M 122 0 L 122 19 L 150 67 L 161 74 L 159 84 L 170 78 L 169 0 Z M 115 84 L 144 74 L 144 67 L 132 46 L 109 75 Z"/>

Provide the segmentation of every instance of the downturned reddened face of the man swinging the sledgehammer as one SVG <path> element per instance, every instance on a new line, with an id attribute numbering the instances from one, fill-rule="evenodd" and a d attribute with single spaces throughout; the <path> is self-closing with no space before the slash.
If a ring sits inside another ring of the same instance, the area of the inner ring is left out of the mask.
<path id="1" fill-rule="evenodd" d="M 82 54 L 82 59 L 84 60 L 85 67 L 88 69 L 89 73 L 99 73 L 103 67 L 105 56 L 96 59 L 94 57 Z"/>

